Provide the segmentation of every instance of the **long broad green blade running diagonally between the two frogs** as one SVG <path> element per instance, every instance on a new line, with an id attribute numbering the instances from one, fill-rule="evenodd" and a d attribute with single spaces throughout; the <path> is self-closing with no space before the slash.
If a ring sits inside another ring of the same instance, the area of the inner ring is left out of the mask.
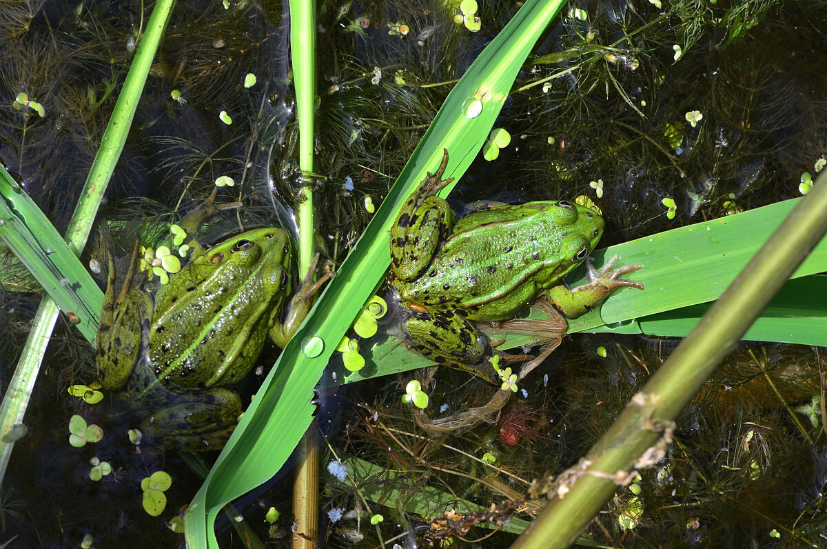
<path id="1" fill-rule="evenodd" d="M 385 277 L 390 264 L 387 231 L 414 185 L 435 170 L 448 147 L 447 174 L 461 175 L 490 132 L 519 68 L 562 1 L 528 0 L 480 54 L 442 105 L 433 124 L 385 198 L 338 276 L 327 286 L 297 335 L 282 351 L 237 431 L 190 505 L 189 547 L 218 547 L 213 521 L 224 503 L 280 469 L 309 425 L 312 389 L 327 359 Z M 469 102 L 480 101 L 480 113 Z M 469 114 L 476 116 L 471 116 Z"/>

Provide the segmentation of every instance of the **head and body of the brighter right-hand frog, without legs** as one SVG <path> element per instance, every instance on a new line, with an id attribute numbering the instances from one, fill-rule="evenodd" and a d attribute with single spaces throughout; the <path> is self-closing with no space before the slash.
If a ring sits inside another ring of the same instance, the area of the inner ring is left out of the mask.
<path id="1" fill-rule="evenodd" d="M 602 229 L 599 215 L 567 202 L 473 212 L 457 222 L 405 296 L 423 305 L 454 306 L 469 320 L 511 318 L 580 264 Z"/>

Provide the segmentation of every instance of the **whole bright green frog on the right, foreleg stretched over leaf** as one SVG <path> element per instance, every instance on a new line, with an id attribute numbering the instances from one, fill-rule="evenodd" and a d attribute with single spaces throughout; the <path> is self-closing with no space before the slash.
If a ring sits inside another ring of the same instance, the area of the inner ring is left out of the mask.
<path id="1" fill-rule="evenodd" d="M 458 221 L 437 192 L 447 151 L 410 196 L 390 234 L 390 287 L 403 305 L 406 344 L 437 364 L 495 379 L 491 345 L 475 323 L 514 318 L 539 296 L 547 296 L 566 318 L 595 307 L 619 287 L 643 290 L 624 274 L 643 267 L 597 272 L 587 262 L 589 282 L 569 288 L 562 278 L 585 261 L 603 233 L 595 210 L 566 200 L 500 205 Z M 485 366 L 488 365 L 488 368 Z"/>

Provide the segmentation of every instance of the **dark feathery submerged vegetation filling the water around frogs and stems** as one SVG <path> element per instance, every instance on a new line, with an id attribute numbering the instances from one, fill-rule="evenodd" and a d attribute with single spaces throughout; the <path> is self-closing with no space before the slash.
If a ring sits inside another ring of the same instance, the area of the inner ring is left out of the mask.
<path id="1" fill-rule="evenodd" d="M 140 40 L 142 7 L 0 2 L 0 161 L 60 230 Z M 136 231 L 146 237 L 192 209 L 222 176 L 234 185 L 220 200 L 242 207 L 225 213 L 214 232 L 257 224 L 294 230 L 301 173 L 281 9 L 278 2 L 179 2 L 84 262 L 105 263 L 106 248 L 127 258 Z M 452 84 L 517 9 L 479 2 L 480 31 L 471 32 L 454 22 L 456 6 L 439 2 L 319 2 L 317 243 L 334 267 Z M 509 132 L 509 144 L 494 161 L 480 155 L 452 205 L 587 195 L 605 213 L 609 244 L 799 195 L 802 173 L 815 173 L 827 158 L 827 39 L 815 23 L 825 16 L 821 2 L 572 2 L 526 60 L 495 124 Z M 249 74 L 256 84 L 245 87 Z M 16 107 L 21 93 L 44 113 Z M 40 295 L 13 258 L 0 258 L 0 272 L 5 378 Z M 545 495 L 561 485 L 553 475 L 576 463 L 674 344 L 566 337 L 499 414 L 461 433 L 428 431 L 423 417 L 483 405 L 493 389 L 466 374 L 416 376 L 428 397 L 424 411 L 401 400 L 412 376 L 324 397 L 332 459 L 378 468 L 358 481 L 347 469 L 339 470 L 342 479 L 326 475 L 325 542 L 422 540 L 428 518 L 445 511 L 428 505 L 438 492 L 459 513 L 472 511 L 459 502 L 488 508 L 507 500 L 528 500 L 528 513 L 536 513 L 544 498 L 556 497 Z M 67 396 L 93 375 L 90 357 L 61 320 L 28 434 L 4 482 L 0 543 L 17 535 L 10 547 L 76 547 L 90 533 L 117 547 L 181 540 L 165 524 L 198 479 L 177 456 L 136 453 L 128 421 L 111 402 L 90 407 Z M 827 536 L 823 357 L 818 348 L 742 344 L 677 421 L 667 455 L 641 471 L 636 488 L 619 489 L 584 536 L 609 547 L 818 546 Z M 250 380 L 248 399 L 261 376 L 260 369 Z M 121 434 L 93 450 L 74 449 L 65 426 L 75 414 Z M 88 462 L 98 456 L 112 474 L 91 483 Z M 137 486 L 161 469 L 173 482 L 158 521 L 144 513 Z M 73 489 L 55 494 L 58 477 Z M 239 505 L 274 545 L 289 536 L 289 508 L 279 507 L 287 489 L 276 484 Z M 281 517 L 265 523 L 274 505 Z M 136 531 L 144 532 L 140 539 Z M 485 533 L 476 528 L 463 538 Z M 512 540 L 497 533 L 480 543 Z"/>

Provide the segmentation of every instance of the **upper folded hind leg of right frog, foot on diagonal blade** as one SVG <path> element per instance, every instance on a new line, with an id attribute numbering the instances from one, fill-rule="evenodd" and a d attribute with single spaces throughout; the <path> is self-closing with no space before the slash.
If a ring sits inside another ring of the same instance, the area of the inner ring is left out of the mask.
<path id="1" fill-rule="evenodd" d="M 438 248 L 451 234 L 454 212 L 437 192 L 453 181 L 440 180 L 448 163 L 444 151 L 442 164 L 412 193 L 390 229 L 390 271 L 402 281 L 419 277 L 437 254 Z"/>

